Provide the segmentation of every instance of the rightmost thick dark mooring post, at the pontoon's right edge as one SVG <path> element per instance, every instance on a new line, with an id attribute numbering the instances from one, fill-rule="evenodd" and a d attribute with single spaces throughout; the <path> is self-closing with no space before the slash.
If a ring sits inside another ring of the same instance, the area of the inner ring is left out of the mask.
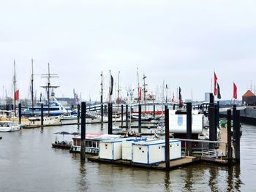
<path id="1" fill-rule="evenodd" d="M 240 163 L 240 137 L 241 137 L 241 132 L 240 132 L 240 110 L 236 110 L 236 124 L 233 123 L 233 129 L 236 131 L 234 133 L 234 147 L 235 147 L 235 158 L 236 158 L 236 163 Z"/>

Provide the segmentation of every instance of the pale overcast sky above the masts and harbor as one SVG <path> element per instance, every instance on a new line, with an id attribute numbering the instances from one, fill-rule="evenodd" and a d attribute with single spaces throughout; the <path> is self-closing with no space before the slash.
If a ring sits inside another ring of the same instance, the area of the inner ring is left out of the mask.
<path id="1" fill-rule="evenodd" d="M 16 63 L 20 98 L 29 96 L 31 58 L 37 96 L 45 74 L 59 75 L 56 96 L 98 100 L 100 74 L 107 99 L 109 74 L 121 94 L 140 85 L 183 99 L 203 100 L 214 71 L 222 99 L 255 89 L 256 1 L 23 0 L 0 1 L 0 96 L 12 94 Z M 116 90 L 115 89 L 115 90 Z M 115 91 L 116 94 L 116 91 Z"/>

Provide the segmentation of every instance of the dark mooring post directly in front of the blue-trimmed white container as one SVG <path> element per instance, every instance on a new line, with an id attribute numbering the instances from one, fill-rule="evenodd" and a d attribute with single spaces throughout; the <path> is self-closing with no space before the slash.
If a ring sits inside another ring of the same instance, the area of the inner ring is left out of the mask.
<path id="1" fill-rule="evenodd" d="M 170 171 L 170 129 L 169 109 L 165 105 L 165 169 Z"/>

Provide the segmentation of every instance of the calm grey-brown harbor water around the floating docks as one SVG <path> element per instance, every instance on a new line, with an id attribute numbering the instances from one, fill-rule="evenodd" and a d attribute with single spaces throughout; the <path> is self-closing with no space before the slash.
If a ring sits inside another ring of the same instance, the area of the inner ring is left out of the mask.
<path id="1" fill-rule="evenodd" d="M 104 125 L 86 125 L 87 133 L 107 134 Z M 255 191 L 256 126 L 242 126 L 241 164 L 227 168 L 193 164 L 170 172 L 86 161 L 79 154 L 53 149 L 71 140 L 59 131 L 77 126 L 23 129 L 1 133 L 0 191 Z"/>

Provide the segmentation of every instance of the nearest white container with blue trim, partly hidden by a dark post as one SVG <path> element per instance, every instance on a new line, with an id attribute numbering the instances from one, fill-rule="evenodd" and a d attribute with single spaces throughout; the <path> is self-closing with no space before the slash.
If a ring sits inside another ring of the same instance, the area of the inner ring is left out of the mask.
<path id="1" fill-rule="evenodd" d="M 170 160 L 181 158 L 181 141 L 170 140 Z M 157 164 L 165 161 L 165 139 L 133 142 L 132 163 Z"/>

